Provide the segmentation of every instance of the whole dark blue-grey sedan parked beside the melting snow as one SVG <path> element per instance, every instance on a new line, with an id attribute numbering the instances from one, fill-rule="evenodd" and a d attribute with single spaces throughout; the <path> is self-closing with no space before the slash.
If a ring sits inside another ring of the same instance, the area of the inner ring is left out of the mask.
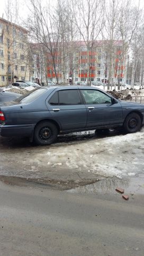
<path id="1" fill-rule="evenodd" d="M 123 127 L 134 133 L 143 115 L 143 104 L 119 101 L 95 87 L 41 87 L 0 107 L 0 134 L 48 145 L 61 132 Z"/>

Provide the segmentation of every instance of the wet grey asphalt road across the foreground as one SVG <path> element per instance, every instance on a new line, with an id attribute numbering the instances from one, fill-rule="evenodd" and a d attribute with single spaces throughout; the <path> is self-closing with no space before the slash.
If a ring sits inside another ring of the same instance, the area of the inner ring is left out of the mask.
<path id="1" fill-rule="evenodd" d="M 143 256 L 144 197 L 0 187 L 4 256 Z"/>

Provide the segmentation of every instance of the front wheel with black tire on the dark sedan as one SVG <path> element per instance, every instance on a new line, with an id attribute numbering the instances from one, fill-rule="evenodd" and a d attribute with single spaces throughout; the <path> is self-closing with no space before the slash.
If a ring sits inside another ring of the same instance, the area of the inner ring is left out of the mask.
<path id="1" fill-rule="evenodd" d="M 123 123 L 123 128 L 126 133 L 136 133 L 141 128 L 141 118 L 137 113 L 129 114 Z"/>

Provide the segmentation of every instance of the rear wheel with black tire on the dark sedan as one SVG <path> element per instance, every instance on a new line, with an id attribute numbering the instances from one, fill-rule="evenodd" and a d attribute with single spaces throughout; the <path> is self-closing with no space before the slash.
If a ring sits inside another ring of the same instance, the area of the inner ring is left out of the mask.
<path id="1" fill-rule="evenodd" d="M 34 129 L 34 142 L 38 145 L 50 145 L 57 139 L 58 129 L 52 122 L 43 121 Z"/>

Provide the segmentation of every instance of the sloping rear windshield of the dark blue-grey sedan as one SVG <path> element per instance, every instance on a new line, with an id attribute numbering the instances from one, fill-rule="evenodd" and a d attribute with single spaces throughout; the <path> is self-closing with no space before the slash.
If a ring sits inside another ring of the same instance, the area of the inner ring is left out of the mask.
<path id="1" fill-rule="evenodd" d="M 30 103 L 30 102 L 34 101 L 35 99 L 37 99 L 41 94 L 43 94 L 46 91 L 47 91 L 47 89 L 44 89 L 44 88 L 34 89 L 31 92 L 23 94 L 22 96 L 15 99 L 14 101 L 19 102 L 19 103 Z"/>

